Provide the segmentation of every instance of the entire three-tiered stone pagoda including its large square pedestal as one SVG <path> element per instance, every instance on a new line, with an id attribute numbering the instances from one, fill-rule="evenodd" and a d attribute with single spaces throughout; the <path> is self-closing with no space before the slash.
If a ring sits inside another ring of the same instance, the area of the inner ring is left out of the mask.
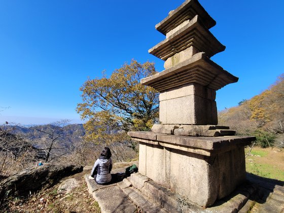
<path id="1" fill-rule="evenodd" d="M 245 180 L 244 146 L 252 136 L 218 126 L 216 91 L 238 78 L 210 60 L 225 50 L 197 0 L 187 0 L 156 25 L 166 38 L 149 53 L 164 70 L 141 79 L 160 92 L 160 124 L 128 132 L 139 142 L 139 173 L 200 206 L 210 206 Z"/>

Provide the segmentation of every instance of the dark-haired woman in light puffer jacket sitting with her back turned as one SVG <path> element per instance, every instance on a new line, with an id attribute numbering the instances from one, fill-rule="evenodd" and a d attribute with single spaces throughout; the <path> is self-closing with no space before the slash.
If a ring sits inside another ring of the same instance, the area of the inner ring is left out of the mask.
<path id="1" fill-rule="evenodd" d="M 91 176 L 94 177 L 96 175 L 95 180 L 98 184 L 107 184 L 112 180 L 111 170 L 113 160 L 111 157 L 112 153 L 110 148 L 105 147 L 93 166 Z"/>

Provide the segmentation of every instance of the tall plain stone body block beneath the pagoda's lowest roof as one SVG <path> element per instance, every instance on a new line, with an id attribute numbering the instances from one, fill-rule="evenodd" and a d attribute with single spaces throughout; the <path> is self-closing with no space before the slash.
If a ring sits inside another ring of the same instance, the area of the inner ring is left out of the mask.
<path id="1" fill-rule="evenodd" d="M 160 93 L 159 121 L 161 124 L 216 125 L 215 97 L 215 90 L 196 83 L 167 89 Z"/>

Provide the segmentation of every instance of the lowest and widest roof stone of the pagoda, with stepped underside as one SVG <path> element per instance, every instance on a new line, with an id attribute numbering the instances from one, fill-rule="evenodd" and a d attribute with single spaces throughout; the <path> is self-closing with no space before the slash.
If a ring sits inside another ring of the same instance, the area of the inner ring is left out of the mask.
<path id="1" fill-rule="evenodd" d="M 200 52 L 160 73 L 141 79 L 140 83 L 161 92 L 188 83 L 197 83 L 218 90 L 237 81 L 237 77 L 210 60 L 205 53 Z"/>

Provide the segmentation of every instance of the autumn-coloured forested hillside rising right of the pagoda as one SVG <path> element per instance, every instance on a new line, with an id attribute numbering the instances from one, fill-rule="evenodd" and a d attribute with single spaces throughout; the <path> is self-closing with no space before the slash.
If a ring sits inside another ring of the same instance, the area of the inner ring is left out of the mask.
<path id="1" fill-rule="evenodd" d="M 284 147 L 284 74 L 267 90 L 237 107 L 219 112 L 219 125 L 239 135 L 256 135 L 261 147 Z"/>

